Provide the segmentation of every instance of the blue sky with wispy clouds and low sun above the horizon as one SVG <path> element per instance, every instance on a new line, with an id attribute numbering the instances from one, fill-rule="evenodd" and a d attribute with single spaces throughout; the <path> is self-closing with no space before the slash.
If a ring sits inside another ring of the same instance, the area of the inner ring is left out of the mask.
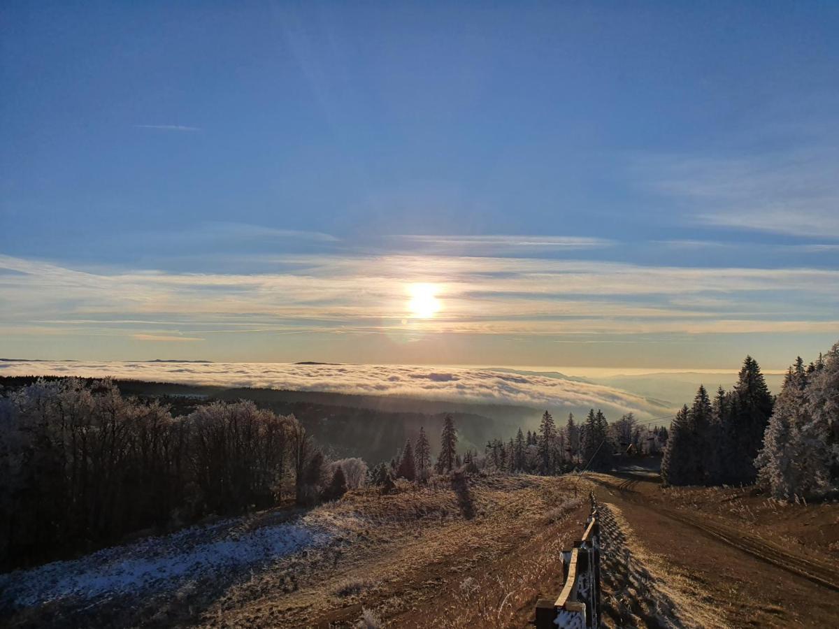
<path id="1" fill-rule="evenodd" d="M 0 29 L 0 356 L 784 369 L 839 340 L 837 3 Z"/>

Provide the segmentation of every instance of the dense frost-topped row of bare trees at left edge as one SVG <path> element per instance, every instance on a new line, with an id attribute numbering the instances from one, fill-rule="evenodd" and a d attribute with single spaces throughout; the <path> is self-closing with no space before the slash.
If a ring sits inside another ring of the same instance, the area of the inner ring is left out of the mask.
<path id="1" fill-rule="evenodd" d="M 252 402 L 172 417 L 107 380 L 40 380 L 0 398 L 0 564 L 268 507 L 284 486 L 310 502 L 323 463 L 294 416 Z"/>

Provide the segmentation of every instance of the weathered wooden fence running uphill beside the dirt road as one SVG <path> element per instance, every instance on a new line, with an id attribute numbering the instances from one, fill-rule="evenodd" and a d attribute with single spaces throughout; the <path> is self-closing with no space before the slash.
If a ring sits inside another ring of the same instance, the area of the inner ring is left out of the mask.
<path id="1" fill-rule="evenodd" d="M 536 629 L 596 629 L 600 626 L 600 521 L 589 493 L 591 515 L 586 531 L 571 550 L 562 552 L 565 585 L 559 598 L 536 603 Z"/>

